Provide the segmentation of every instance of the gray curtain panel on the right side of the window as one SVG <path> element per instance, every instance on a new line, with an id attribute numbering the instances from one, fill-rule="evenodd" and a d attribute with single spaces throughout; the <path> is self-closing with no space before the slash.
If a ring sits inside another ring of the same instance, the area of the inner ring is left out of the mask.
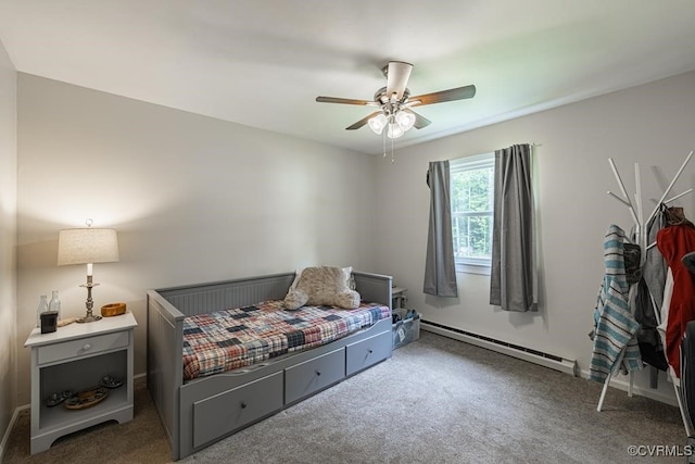
<path id="1" fill-rule="evenodd" d="M 490 304 L 538 311 L 531 147 L 495 151 Z"/>

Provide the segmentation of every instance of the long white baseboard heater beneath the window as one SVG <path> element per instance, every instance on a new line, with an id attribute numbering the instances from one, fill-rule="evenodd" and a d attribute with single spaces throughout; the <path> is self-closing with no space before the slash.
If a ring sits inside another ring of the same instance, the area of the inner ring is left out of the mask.
<path id="1" fill-rule="evenodd" d="M 530 363 L 539 364 L 544 367 L 577 376 L 576 360 L 568 360 L 555 354 L 544 353 L 542 351 L 532 350 L 530 348 L 520 347 L 518 344 L 507 343 L 506 341 L 495 340 L 494 338 L 472 334 L 453 327 L 447 327 L 445 325 L 437 324 L 431 321 L 420 319 L 420 327 L 422 328 L 422 330 L 443 335 L 444 337 L 453 338 L 455 340 L 464 341 L 466 343 L 475 344 L 480 348 L 485 348 L 488 350 L 496 351 L 508 356 L 517 358 L 519 360 L 528 361 Z"/>

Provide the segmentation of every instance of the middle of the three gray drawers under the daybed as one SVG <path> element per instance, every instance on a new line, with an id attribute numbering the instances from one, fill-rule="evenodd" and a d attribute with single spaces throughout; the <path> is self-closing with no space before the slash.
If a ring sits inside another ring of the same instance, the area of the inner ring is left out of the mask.
<path id="1" fill-rule="evenodd" d="M 328 387 L 345 377 L 343 348 L 304 361 L 285 369 L 285 402 L 296 400 Z"/>

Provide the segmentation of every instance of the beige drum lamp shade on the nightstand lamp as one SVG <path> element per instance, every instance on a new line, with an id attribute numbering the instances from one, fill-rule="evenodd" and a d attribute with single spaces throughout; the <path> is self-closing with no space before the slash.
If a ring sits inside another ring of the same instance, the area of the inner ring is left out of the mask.
<path id="1" fill-rule="evenodd" d="M 111 263 L 118 261 L 118 238 L 114 229 L 63 229 L 58 236 L 58 265 Z"/>

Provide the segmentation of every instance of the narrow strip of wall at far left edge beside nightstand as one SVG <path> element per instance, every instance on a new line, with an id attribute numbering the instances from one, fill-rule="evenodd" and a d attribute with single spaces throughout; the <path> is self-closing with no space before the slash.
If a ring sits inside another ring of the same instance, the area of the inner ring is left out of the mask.
<path id="1" fill-rule="evenodd" d="M 16 406 L 16 79 L 0 41 L 0 455 Z"/>

